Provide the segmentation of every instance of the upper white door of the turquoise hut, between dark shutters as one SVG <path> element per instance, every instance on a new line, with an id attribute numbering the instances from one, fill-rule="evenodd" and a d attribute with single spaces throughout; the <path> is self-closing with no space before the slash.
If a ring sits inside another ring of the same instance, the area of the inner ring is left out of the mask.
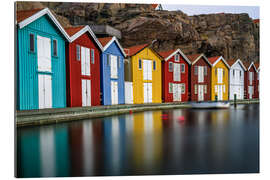
<path id="1" fill-rule="evenodd" d="M 51 39 L 37 36 L 38 71 L 51 72 Z"/>

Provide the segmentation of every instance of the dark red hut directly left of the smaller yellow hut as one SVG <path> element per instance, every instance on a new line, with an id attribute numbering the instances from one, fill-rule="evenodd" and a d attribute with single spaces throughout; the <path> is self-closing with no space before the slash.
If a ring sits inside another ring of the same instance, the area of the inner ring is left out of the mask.
<path id="1" fill-rule="evenodd" d="M 190 66 L 190 100 L 211 100 L 211 63 L 204 54 L 192 54 L 187 58 Z"/>

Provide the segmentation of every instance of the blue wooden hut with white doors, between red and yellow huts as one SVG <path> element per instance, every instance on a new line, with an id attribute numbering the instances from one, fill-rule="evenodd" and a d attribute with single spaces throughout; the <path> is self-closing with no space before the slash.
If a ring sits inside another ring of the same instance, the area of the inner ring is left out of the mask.
<path id="1" fill-rule="evenodd" d="M 124 58 L 126 54 L 115 36 L 98 40 L 103 46 L 100 61 L 102 104 L 124 104 Z"/>

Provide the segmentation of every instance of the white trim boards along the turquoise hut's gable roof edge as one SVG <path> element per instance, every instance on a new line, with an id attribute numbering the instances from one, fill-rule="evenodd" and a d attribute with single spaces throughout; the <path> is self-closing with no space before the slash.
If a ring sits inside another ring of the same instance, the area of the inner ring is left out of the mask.
<path id="1" fill-rule="evenodd" d="M 58 22 L 58 20 L 54 17 L 52 12 L 48 8 L 42 9 L 39 12 L 35 13 L 34 15 L 32 15 L 32 16 L 24 19 L 23 21 L 21 21 L 18 24 L 19 28 L 22 29 L 23 27 L 27 26 L 28 24 L 32 23 L 33 21 L 37 20 L 38 18 L 44 16 L 45 14 L 47 14 L 51 18 L 51 20 L 54 22 L 54 24 L 57 26 L 57 28 L 60 30 L 60 32 L 70 42 L 69 35 L 66 33 L 64 28 L 61 26 L 61 24 Z"/>

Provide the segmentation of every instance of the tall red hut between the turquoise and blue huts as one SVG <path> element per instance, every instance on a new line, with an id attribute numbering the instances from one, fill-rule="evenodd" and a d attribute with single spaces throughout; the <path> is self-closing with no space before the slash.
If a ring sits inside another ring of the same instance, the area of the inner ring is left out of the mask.
<path id="1" fill-rule="evenodd" d="M 100 105 L 100 55 L 102 46 L 89 26 L 65 28 L 67 104 L 69 107 Z"/>

